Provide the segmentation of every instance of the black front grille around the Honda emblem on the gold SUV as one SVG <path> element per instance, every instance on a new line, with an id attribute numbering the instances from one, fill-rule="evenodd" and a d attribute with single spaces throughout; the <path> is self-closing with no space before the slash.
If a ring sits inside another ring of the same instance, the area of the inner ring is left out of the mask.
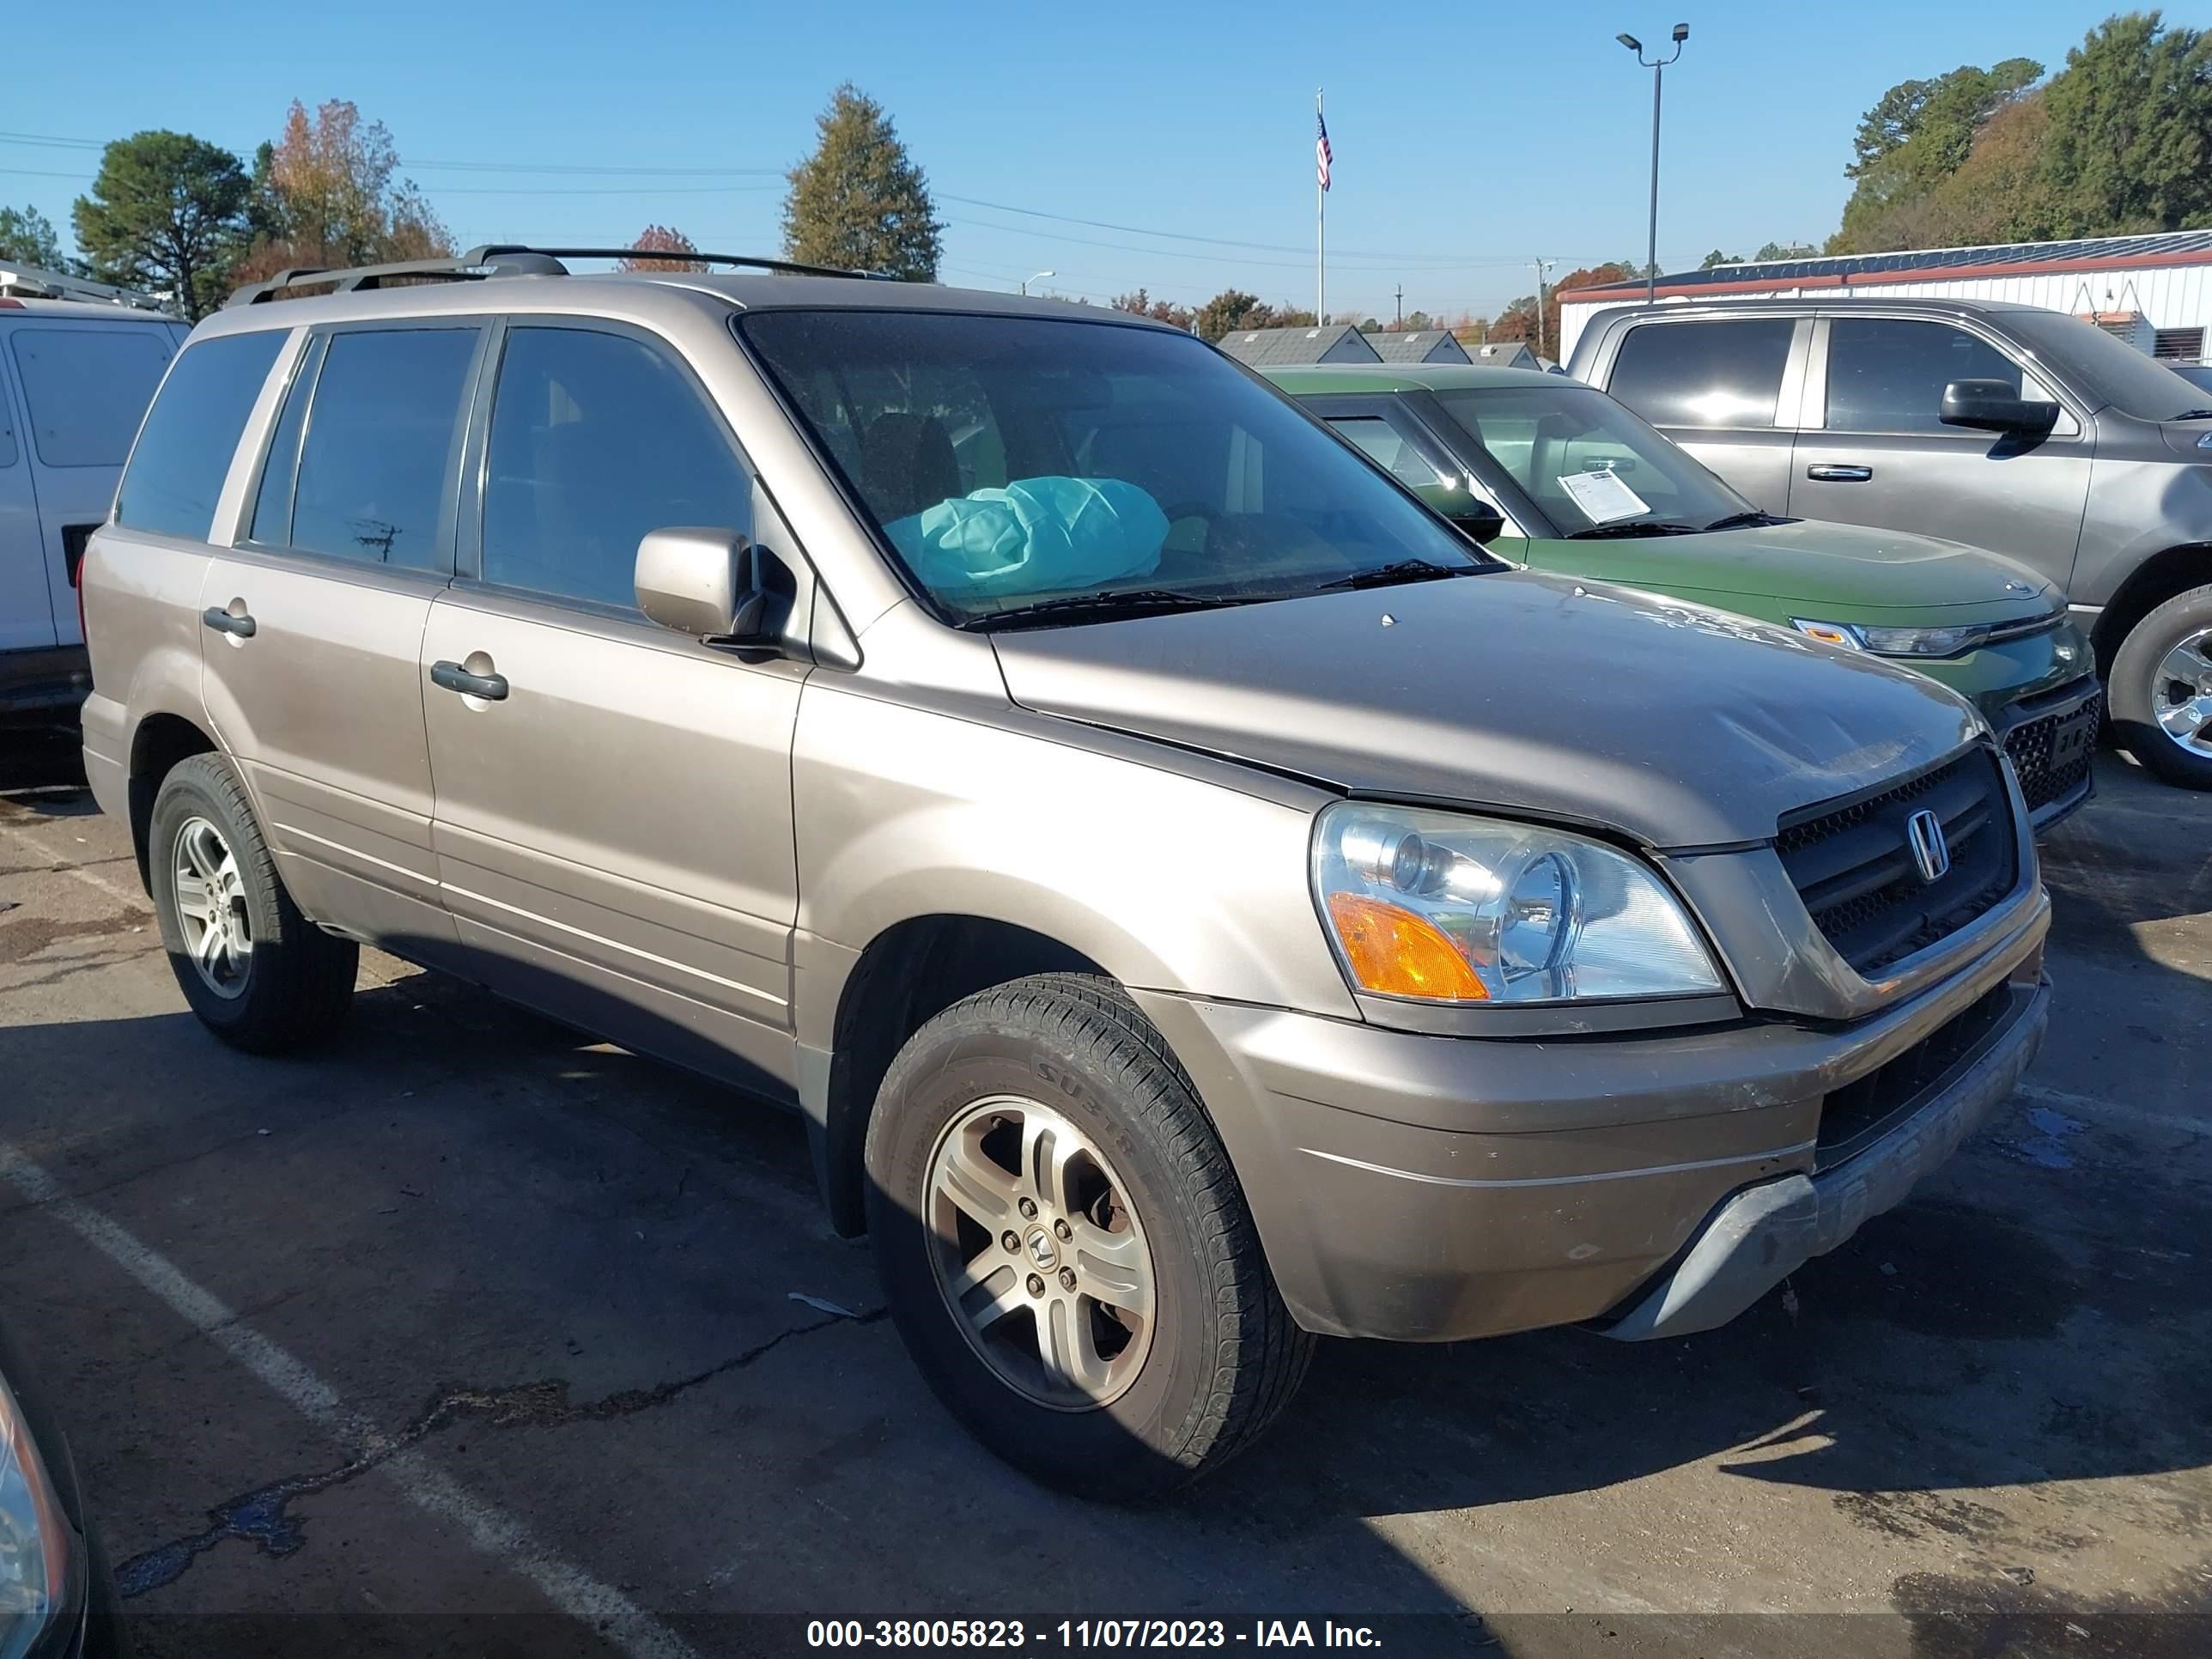
<path id="1" fill-rule="evenodd" d="M 1936 814 L 1951 852 L 1951 869 L 1933 883 L 1920 878 L 1907 838 L 1916 812 Z M 1989 914 L 2020 876 L 2011 792 L 1986 748 L 1796 812 L 1783 818 L 1774 849 L 1827 942 L 1869 975 Z"/>

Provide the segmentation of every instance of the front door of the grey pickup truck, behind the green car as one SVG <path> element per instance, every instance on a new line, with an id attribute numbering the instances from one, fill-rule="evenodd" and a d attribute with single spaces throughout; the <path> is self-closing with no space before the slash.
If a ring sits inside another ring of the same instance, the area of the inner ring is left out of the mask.
<path id="1" fill-rule="evenodd" d="M 1825 316 L 1790 478 L 1796 518 L 1942 535 L 2073 575 L 2095 440 L 1993 334 L 1927 316 Z M 1942 425 L 1951 380 L 2059 403 L 2042 438 Z"/>

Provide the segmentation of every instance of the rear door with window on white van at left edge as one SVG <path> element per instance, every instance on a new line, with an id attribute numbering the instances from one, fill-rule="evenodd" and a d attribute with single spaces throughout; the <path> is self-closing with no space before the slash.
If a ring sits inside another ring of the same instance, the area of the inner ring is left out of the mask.
<path id="1" fill-rule="evenodd" d="M 161 323 L 42 312 L 9 330 L 9 367 L 29 427 L 22 449 L 38 495 L 38 571 L 55 644 L 84 639 L 71 586 L 77 560 L 115 504 L 131 440 L 175 352 Z"/>

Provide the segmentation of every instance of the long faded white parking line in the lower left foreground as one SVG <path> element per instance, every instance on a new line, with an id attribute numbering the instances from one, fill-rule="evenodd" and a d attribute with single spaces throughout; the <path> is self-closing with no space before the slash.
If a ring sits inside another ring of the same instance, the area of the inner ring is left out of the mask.
<path id="1" fill-rule="evenodd" d="M 239 1323 L 239 1316 L 221 1298 L 188 1279 L 168 1256 L 91 1206 L 69 1197 L 46 1170 L 24 1159 L 7 1141 L 0 1141 L 0 1177 L 131 1274 L 192 1329 L 265 1383 L 285 1405 L 345 1442 L 352 1455 L 380 1458 L 383 1469 L 407 1502 L 429 1515 L 456 1522 L 476 1548 L 526 1577 L 571 1619 L 593 1626 L 633 1659 L 697 1659 L 690 1644 L 630 1597 L 544 1548 L 522 1522 L 465 1491 L 427 1455 L 411 1449 L 392 1451 L 389 1436 L 347 1407 L 323 1378 L 276 1343 Z"/>

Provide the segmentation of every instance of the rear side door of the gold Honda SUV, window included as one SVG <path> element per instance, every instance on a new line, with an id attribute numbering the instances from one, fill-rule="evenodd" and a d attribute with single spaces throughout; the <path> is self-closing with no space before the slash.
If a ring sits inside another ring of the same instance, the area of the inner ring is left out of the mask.
<path id="1" fill-rule="evenodd" d="M 310 330 L 201 588 L 206 701 L 301 909 L 438 960 L 420 650 L 453 573 L 484 325 Z"/>

